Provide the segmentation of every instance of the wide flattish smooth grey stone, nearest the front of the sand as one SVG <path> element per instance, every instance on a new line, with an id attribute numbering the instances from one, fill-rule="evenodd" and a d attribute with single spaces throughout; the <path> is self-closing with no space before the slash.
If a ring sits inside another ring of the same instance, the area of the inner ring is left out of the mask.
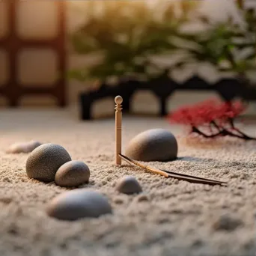
<path id="1" fill-rule="evenodd" d="M 74 189 L 54 198 L 46 207 L 46 213 L 56 219 L 71 221 L 112 213 L 112 207 L 108 199 L 99 192 Z"/>

